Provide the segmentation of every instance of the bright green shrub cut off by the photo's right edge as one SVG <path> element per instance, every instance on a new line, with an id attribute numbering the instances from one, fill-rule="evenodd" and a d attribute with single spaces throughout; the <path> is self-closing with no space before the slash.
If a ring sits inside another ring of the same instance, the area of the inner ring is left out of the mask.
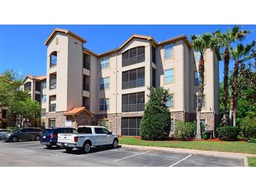
<path id="1" fill-rule="evenodd" d="M 256 117 L 243 118 L 241 122 L 241 133 L 245 139 L 256 138 Z"/>

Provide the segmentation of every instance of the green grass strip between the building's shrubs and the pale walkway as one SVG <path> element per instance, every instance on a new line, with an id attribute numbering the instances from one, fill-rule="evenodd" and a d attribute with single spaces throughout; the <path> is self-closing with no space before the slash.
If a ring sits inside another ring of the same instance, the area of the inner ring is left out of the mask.
<path id="1" fill-rule="evenodd" d="M 163 146 L 206 151 L 226 151 L 234 153 L 256 154 L 256 142 L 214 142 L 214 141 L 145 141 L 135 137 L 120 137 L 120 144 L 140 146 Z"/>

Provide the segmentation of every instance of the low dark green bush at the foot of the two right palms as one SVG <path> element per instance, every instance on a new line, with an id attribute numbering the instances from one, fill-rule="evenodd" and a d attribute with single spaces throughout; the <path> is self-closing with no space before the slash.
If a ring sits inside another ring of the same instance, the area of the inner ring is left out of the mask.
<path id="1" fill-rule="evenodd" d="M 220 139 L 226 141 L 236 141 L 240 129 L 238 127 L 226 126 L 217 129 L 217 135 Z"/>

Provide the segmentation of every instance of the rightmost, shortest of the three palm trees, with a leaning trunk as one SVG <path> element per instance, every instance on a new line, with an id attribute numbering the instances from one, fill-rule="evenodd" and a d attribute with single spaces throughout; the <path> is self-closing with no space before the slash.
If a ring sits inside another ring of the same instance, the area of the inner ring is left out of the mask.
<path id="1" fill-rule="evenodd" d="M 229 122 L 232 121 L 233 118 L 233 126 L 236 126 L 236 111 L 237 111 L 237 81 L 238 81 L 238 69 L 239 64 L 249 60 L 252 55 L 250 55 L 250 51 L 252 47 L 255 46 L 254 43 L 243 46 L 243 44 L 239 43 L 234 49 L 231 47 L 231 60 L 235 61 L 234 71 L 233 71 L 233 81 L 231 85 L 231 101 L 230 101 L 230 110 L 229 110 Z"/>

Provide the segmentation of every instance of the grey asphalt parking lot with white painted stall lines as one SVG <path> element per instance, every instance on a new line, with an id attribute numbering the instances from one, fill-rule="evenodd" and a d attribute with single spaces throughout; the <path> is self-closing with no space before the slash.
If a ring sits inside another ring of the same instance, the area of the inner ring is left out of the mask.
<path id="1" fill-rule="evenodd" d="M 241 167 L 243 160 L 163 151 L 102 147 L 91 153 L 46 149 L 39 142 L 0 141 L 0 166 Z"/>

